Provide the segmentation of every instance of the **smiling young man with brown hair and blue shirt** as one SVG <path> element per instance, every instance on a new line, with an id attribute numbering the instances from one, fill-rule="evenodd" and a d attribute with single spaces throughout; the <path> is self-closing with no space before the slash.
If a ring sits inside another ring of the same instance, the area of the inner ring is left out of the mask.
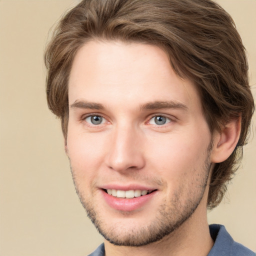
<path id="1" fill-rule="evenodd" d="M 45 53 L 90 255 L 254 255 L 221 201 L 254 110 L 245 49 L 210 0 L 83 0 Z"/>

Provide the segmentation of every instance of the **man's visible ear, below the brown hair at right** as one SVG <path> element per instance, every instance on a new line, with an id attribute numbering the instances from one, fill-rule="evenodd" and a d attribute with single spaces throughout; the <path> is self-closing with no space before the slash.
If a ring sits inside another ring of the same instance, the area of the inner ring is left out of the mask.
<path id="1" fill-rule="evenodd" d="M 241 116 L 222 125 L 221 131 L 213 136 L 211 162 L 223 162 L 233 152 L 240 136 Z"/>

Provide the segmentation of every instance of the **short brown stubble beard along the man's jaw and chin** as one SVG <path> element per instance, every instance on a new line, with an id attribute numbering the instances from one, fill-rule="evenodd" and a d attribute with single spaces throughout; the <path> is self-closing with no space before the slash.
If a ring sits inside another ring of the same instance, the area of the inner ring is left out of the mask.
<path id="1" fill-rule="evenodd" d="M 85 199 L 82 192 L 78 189 L 77 182 L 74 177 L 74 172 L 71 168 L 75 190 L 79 196 L 80 202 L 87 212 L 98 232 L 110 243 L 118 246 L 144 246 L 152 242 L 161 240 L 166 235 L 171 234 L 174 230 L 178 229 L 186 220 L 190 218 L 197 206 L 202 200 L 208 176 L 210 173 L 210 160 L 209 155 L 211 146 L 207 149 L 207 157 L 204 165 L 202 166 L 200 183 L 197 186 L 197 191 L 189 191 L 190 197 L 186 198 L 184 203 L 180 202 L 182 198 L 182 189 L 179 189 L 172 196 L 171 200 L 163 202 L 159 207 L 154 219 L 148 223 L 147 226 L 139 226 L 137 229 L 125 230 L 116 232 L 116 227 L 109 227 L 100 218 L 100 214 L 96 211 L 93 203 L 93 198 Z M 182 187 L 181 187 L 182 188 Z M 124 214 L 125 215 L 125 214 Z M 124 216 L 125 217 L 125 216 Z"/>

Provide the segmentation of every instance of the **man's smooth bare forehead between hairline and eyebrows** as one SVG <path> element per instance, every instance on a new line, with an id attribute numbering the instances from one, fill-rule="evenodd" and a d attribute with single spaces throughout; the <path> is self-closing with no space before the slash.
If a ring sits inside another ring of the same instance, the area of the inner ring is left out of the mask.
<path id="1" fill-rule="evenodd" d="M 176 101 L 200 106 L 194 84 L 179 78 L 159 47 L 120 41 L 90 41 L 76 53 L 69 103 L 85 99 L 115 107 L 129 103 Z"/>

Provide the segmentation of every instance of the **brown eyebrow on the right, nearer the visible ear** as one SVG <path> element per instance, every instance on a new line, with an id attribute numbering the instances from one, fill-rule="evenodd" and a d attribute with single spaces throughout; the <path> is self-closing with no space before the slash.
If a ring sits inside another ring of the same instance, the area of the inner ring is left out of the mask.
<path id="1" fill-rule="evenodd" d="M 154 101 L 148 102 L 140 105 L 140 109 L 146 110 L 154 110 L 154 109 L 162 109 L 162 108 L 174 108 L 174 109 L 183 109 L 188 110 L 188 107 L 180 102 L 170 100 L 170 101 Z"/>

